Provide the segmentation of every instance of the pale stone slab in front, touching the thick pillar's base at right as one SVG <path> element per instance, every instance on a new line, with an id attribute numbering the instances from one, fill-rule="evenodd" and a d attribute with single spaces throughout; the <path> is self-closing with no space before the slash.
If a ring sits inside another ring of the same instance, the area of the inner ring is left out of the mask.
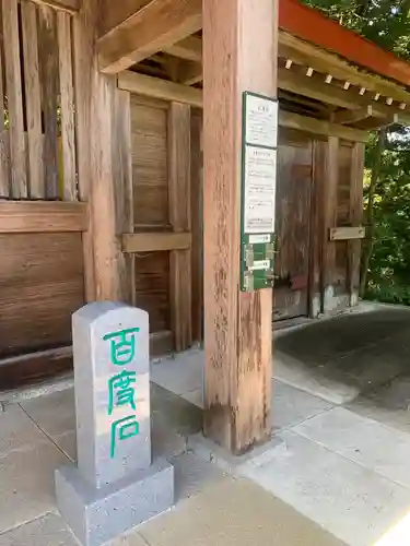
<path id="1" fill-rule="evenodd" d="M 351 546 L 374 546 L 410 511 L 410 490 L 293 431 L 245 475 Z"/>

